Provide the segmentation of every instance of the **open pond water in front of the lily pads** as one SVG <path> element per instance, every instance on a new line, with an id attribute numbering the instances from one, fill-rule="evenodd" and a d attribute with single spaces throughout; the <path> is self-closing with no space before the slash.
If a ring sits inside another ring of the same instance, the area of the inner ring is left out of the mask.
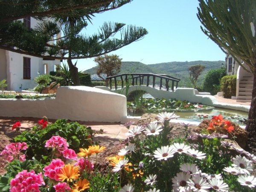
<path id="1" fill-rule="evenodd" d="M 239 125 L 245 125 L 244 119 L 248 118 L 247 112 L 224 109 L 224 108 L 213 108 L 213 109 L 198 110 L 198 111 L 170 111 L 170 112 L 174 112 L 176 115 L 180 116 L 178 119 L 187 120 L 187 121 L 197 121 L 197 122 L 201 122 L 203 119 L 206 119 L 206 118 L 211 119 L 212 116 L 215 116 L 215 115 L 222 115 L 225 120 L 231 120 L 232 122 L 236 122 Z M 152 113 L 152 112 L 148 112 L 148 113 Z M 153 112 L 153 113 L 158 114 L 160 112 Z M 129 115 L 141 116 L 142 114 L 143 113 L 134 113 L 134 114 L 130 113 Z"/>

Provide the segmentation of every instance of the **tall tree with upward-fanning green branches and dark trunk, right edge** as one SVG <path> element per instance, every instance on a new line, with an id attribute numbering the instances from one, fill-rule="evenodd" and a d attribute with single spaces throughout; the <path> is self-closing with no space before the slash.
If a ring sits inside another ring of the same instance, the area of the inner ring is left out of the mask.
<path id="1" fill-rule="evenodd" d="M 253 93 L 246 130 L 247 147 L 256 151 L 256 1 L 198 0 L 202 31 L 254 76 Z M 248 67 L 246 68 L 241 60 Z"/>

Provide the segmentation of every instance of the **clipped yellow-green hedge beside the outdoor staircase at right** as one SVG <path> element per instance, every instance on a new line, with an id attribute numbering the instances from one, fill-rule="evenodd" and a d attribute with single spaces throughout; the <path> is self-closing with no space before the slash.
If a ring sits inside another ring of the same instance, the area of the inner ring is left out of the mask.
<path id="1" fill-rule="evenodd" d="M 224 76 L 221 78 L 221 91 L 224 98 L 236 95 L 236 76 Z"/>

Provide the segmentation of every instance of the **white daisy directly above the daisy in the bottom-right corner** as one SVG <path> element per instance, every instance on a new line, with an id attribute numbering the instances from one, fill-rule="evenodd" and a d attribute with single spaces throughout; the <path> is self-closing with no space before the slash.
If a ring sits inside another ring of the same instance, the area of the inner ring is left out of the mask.
<path id="1" fill-rule="evenodd" d="M 253 172 L 252 161 L 241 157 L 241 155 L 236 155 L 236 158 L 233 158 L 232 166 L 238 169 L 241 174 L 250 175 Z"/>

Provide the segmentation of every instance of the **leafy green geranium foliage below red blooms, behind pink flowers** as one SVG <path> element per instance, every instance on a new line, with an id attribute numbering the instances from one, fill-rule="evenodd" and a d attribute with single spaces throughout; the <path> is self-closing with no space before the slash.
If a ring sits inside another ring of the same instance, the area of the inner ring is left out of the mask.
<path id="1" fill-rule="evenodd" d="M 26 155 L 29 158 L 34 156 L 40 160 L 42 155 L 48 153 L 47 148 L 45 148 L 46 141 L 54 135 L 65 138 L 70 148 L 76 152 L 79 151 L 79 148 L 87 148 L 92 143 L 90 127 L 80 125 L 78 122 L 67 123 L 67 119 L 58 119 L 44 129 L 35 126 L 32 131 L 23 131 L 14 138 L 14 141 L 26 142 L 29 145 Z"/>

